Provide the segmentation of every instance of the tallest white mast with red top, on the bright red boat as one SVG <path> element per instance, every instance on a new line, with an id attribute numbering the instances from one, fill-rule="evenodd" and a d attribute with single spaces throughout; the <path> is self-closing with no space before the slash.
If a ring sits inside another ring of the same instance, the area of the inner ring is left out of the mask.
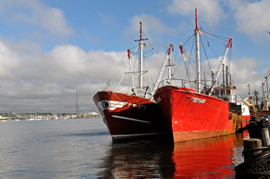
<path id="1" fill-rule="evenodd" d="M 200 64 L 200 32 L 201 30 L 198 27 L 198 12 L 197 8 L 195 9 L 195 22 L 196 22 L 196 29 L 195 32 L 195 44 L 196 44 L 196 91 L 198 93 L 201 92 L 201 64 Z"/>

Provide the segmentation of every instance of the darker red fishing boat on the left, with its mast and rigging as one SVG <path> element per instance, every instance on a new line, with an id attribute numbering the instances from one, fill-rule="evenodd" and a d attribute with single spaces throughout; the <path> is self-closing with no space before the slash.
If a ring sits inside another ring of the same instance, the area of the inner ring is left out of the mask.
<path id="1" fill-rule="evenodd" d="M 139 44 L 134 53 L 131 53 L 131 50 L 127 51 L 128 66 L 123 74 L 130 77 L 128 83 L 132 86 L 125 87 L 127 82 L 122 82 L 123 77 L 121 77 L 120 83 L 124 84 L 119 83 L 115 91 L 107 90 L 110 85 L 107 83 L 105 90 L 97 92 L 93 97 L 113 141 L 172 135 L 160 107 L 153 100 L 151 85 L 144 84 L 147 79 L 144 76 L 148 71 L 147 65 L 144 65 L 146 46 L 144 40 L 147 39 L 143 39 L 142 23 L 140 23 L 140 39 L 136 40 Z M 135 58 L 136 53 L 138 58 Z M 138 76 L 137 86 L 135 86 L 134 76 Z M 121 89 L 118 90 L 120 87 Z"/>

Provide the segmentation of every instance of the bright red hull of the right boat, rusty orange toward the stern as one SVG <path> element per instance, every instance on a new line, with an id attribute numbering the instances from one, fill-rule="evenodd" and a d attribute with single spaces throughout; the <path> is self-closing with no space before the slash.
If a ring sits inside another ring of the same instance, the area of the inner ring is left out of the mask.
<path id="1" fill-rule="evenodd" d="M 241 116 L 229 112 L 228 102 L 193 89 L 165 86 L 154 98 L 171 127 L 174 142 L 227 135 L 241 127 Z"/>

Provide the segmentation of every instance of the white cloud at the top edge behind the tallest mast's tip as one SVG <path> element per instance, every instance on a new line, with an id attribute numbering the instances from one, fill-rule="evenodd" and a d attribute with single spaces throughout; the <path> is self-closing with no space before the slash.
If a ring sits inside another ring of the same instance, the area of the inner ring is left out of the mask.
<path id="1" fill-rule="evenodd" d="M 195 8 L 198 9 L 199 22 L 214 26 L 223 18 L 223 9 L 219 0 L 173 0 L 167 8 L 171 14 L 189 16 L 195 21 Z"/>

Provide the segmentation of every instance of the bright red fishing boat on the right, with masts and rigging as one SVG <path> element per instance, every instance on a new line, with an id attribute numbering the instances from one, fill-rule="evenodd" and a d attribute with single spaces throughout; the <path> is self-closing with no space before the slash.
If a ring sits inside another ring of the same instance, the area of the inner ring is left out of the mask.
<path id="1" fill-rule="evenodd" d="M 172 81 L 175 79 L 173 75 L 169 75 L 166 79 L 170 81 L 169 85 L 158 88 L 154 95 L 154 99 L 171 127 L 174 142 L 227 135 L 235 133 L 242 127 L 242 109 L 236 101 L 236 88 L 231 85 L 231 82 L 228 82 L 229 73 L 226 73 L 226 83 L 223 78 L 221 87 L 216 87 L 221 70 L 223 69 L 223 76 L 225 76 L 225 66 L 226 72 L 229 71 L 229 60 L 226 55 L 231 47 L 232 39 L 226 39 L 225 54 L 220 58 L 221 64 L 215 75 L 212 71 L 211 84 L 207 86 L 206 80 L 202 80 L 200 74 L 199 40 L 203 31 L 198 27 L 197 9 L 195 12 L 196 70 L 194 74 L 196 74 L 196 79 L 192 82 L 189 77 L 190 72 L 187 72 L 187 80 L 182 80 L 182 87 L 179 87 L 172 85 Z M 180 50 L 183 61 L 186 62 L 187 55 L 182 44 Z M 168 68 L 170 66 L 169 64 Z M 187 87 L 187 84 L 190 85 L 190 88 Z M 202 85 L 204 85 L 203 88 Z"/>

